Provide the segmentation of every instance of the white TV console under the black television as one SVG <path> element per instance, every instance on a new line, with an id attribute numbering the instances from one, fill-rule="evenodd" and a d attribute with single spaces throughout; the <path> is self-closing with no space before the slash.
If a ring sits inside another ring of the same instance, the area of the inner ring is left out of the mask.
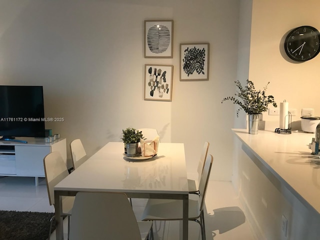
<path id="1" fill-rule="evenodd" d="M 44 138 L 16 137 L 27 143 L 0 141 L 0 176 L 32 176 L 35 185 L 44 177 L 43 158 L 52 151 L 59 151 L 66 162 L 66 140 L 59 138 L 44 142 Z"/>

